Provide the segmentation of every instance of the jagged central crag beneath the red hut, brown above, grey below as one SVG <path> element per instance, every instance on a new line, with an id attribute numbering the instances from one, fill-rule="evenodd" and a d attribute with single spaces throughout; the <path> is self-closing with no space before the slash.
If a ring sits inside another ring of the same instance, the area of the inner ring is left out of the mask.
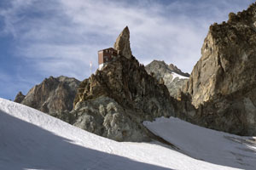
<path id="1" fill-rule="evenodd" d="M 119 36 L 115 44 L 119 39 L 125 38 Z M 125 41 L 128 44 L 129 38 Z M 74 125 L 117 141 L 145 141 L 149 134 L 143 121 L 175 116 L 173 100 L 166 86 L 148 75 L 135 57 L 121 55 L 80 83 Z"/>

